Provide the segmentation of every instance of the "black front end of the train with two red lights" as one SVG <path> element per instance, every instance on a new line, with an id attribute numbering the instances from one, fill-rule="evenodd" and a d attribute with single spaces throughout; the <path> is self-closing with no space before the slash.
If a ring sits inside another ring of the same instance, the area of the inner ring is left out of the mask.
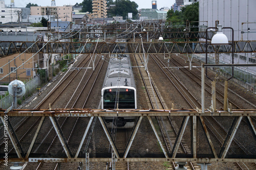
<path id="1" fill-rule="evenodd" d="M 119 94 L 119 101 L 118 101 Z M 103 94 L 104 109 L 135 109 L 135 92 L 133 89 L 106 89 Z"/>

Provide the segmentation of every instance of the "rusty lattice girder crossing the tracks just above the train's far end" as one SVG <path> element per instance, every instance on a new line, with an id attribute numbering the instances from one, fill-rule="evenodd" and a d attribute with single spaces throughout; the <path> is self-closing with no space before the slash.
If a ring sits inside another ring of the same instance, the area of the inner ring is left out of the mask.
<path id="1" fill-rule="evenodd" d="M 22 43 L 17 47 L 16 44 Z M 142 54 L 142 43 L 138 42 L 50 42 L 42 47 L 45 42 L 0 42 L 0 57 L 15 53 L 52 53 L 52 54 Z M 234 53 L 255 53 L 256 41 L 234 41 Z M 33 44 L 31 46 L 31 44 Z M 31 46 L 28 48 L 28 46 Z M 84 47 L 85 46 L 85 47 Z M 83 48 L 84 47 L 84 48 Z M 143 42 L 145 53 L 148 54 L 205 54 L 205 42 Z M 40 50 L 41 49 L 41 50 Z M 113 51 L 115 49 L 115 51 Z M 125 51 L 130 49 L 130 52 Z M 231 53 L 231 45 L 208 45 L 208 53 Z"/>

